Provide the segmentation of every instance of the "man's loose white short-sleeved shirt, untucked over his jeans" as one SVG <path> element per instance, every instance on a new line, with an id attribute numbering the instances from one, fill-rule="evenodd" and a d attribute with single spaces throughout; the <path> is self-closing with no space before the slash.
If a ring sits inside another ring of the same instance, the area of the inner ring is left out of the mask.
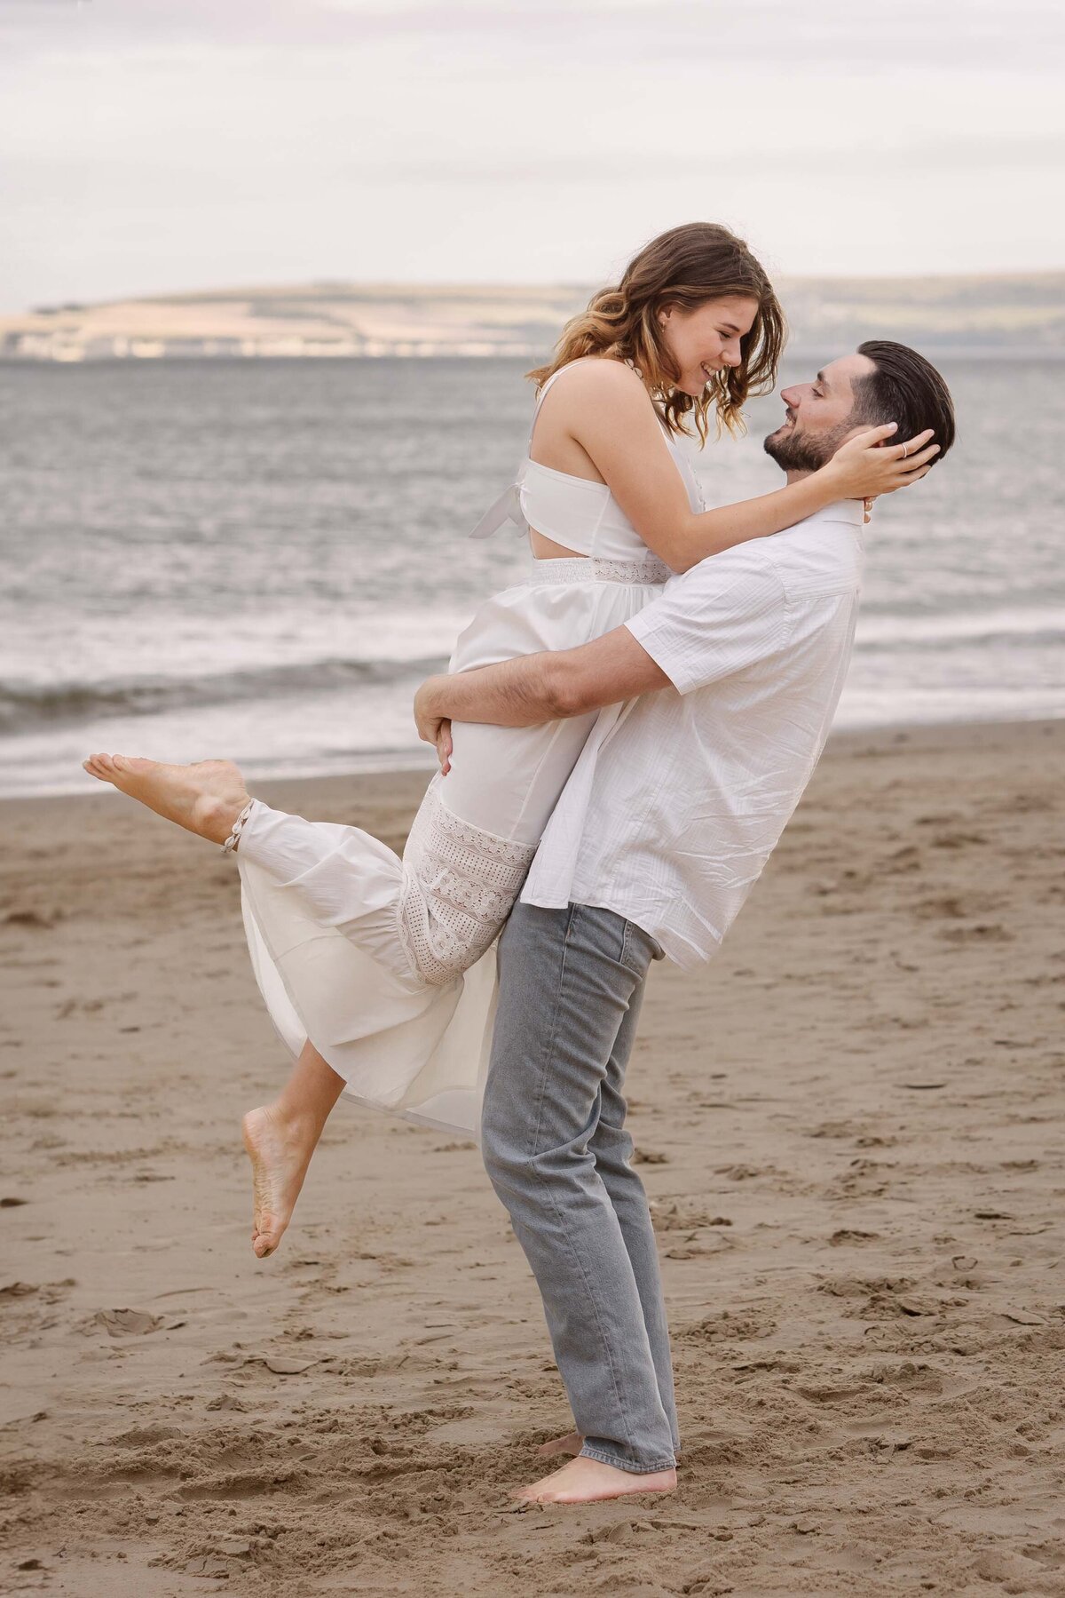
<path id="1" fill-rule="evenodd" d="M 522 901 L 599 904 L 714 954 L 818 764 L 854 642 L 862 502 L 672 577 L 628 622 L 671 687 L 605 710 Z"/>

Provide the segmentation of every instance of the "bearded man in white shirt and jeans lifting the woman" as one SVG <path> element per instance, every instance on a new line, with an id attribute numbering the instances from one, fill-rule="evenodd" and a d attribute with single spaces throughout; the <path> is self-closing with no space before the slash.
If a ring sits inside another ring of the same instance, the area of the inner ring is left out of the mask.
<path id="1" fill-rule="evenodd" d="M 899 344 L 862 344 L 782 390 L 766 452 L 795 481 L 854 431 L 896 422 L 953 443 L 947 387 Z M 588 1502 L 675 1486 L 679 1448 L 655 1234 L 623 1130 L 624 1069 L 653 959 L 717 949 L 824 746 L 851 654 L 857 500 L 671 578 L 626 626 L 418 692 L 449 722 L 533 725 L 626 705 L 591 733 L 498 944 L 481 1115 L 492 1184 L 536 1277 L 580 1453 L 522 1489 Z"/>

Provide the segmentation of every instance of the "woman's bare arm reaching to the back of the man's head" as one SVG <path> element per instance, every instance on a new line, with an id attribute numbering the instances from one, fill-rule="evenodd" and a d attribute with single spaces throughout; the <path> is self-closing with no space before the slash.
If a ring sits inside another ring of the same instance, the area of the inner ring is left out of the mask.
<path id="1" fill-rule="evenodd" d="M 905 444 L 885 446 L 894 423 L 875 427 L 798 483 L 696 513 L 635 372 L 620 361 L 583 361 L 567 382 L 565 401 L 570 436 L 594 462 L 648 550 L 675 572 L 736 543 L 794 527 L 835 500 L 891 494 L 915 483 L 937 449 L 921 447 L 931 428 Z"/>

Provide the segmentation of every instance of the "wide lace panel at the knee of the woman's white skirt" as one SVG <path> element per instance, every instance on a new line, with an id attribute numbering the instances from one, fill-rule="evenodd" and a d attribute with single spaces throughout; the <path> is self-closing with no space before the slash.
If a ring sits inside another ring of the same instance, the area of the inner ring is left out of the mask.
<path id="1" fill-rule="evenodd" d="M 430 988 L 453 981 L 495 943 L 536 852 L 460 821 L 439 783 L 437 775 L 410 828 L 398 904 L 399 936 Z"/>

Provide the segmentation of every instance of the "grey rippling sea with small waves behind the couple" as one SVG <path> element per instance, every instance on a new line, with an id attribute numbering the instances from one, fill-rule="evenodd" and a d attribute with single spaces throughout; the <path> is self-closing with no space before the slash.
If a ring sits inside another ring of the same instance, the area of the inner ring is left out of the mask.
<path id="1" fill-rule="evenodd" d="M 414 689 L 529 559 L 466 539 L 524 452 L 527 364 L 0 366 L 0 793 L 96 791 L 96 748 L 252 780 L 428 764 Z M 837 727 L 1065 713 L 1065 368 L 939 364 L 960 439 L 865 529 Z M 782 481 L 781 414 L 693 441 L 709 503 Z"/>

